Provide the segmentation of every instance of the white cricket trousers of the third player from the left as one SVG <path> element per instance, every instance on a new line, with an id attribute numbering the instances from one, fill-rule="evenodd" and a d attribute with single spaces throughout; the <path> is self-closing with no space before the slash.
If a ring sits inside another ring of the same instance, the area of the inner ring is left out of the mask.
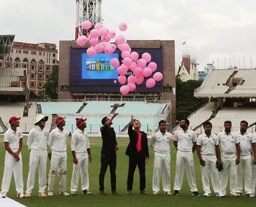
<path id="1" fill-rule="evenodd" d="M 61 193 L 67 191 L 67 152 L 66 151 L 52 151 L 51 167 L 48 179 L 48 191 L 54 191 L 55 177 L 59 172 L 60 177 L 60 191 Z"/>

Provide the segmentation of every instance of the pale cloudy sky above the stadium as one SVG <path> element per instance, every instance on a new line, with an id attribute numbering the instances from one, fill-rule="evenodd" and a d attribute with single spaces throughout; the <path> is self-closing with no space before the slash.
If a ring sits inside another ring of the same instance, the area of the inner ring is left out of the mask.
<path id="1" fill-rule="evenodd" d="M 187 49 L 199 71 L 212 61 L 256 68 L 255 8 L 255 0 L 102 0 L 102 19 L 127 40 L 175 40 L 176 67 Z M 58 47 L 75 38 L 76 0 L 1 0 L 0 14 L 0 34 L 15 41 Z"/>

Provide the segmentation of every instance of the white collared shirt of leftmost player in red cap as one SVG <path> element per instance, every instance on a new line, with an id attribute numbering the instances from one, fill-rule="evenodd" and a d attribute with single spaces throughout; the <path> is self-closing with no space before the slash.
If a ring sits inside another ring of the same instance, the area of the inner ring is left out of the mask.
<path id="1" fill-rule="evenodd" d="M 9 128 L 4 133 L 4 142 L 9 143 L 9 147 L 13 152 L 18 151 L 20 147 L 20 139 L 23 138 L 22 135 L 22 129 L 17 127 L 16 132 L 12 130 L 12 128 Z"/>

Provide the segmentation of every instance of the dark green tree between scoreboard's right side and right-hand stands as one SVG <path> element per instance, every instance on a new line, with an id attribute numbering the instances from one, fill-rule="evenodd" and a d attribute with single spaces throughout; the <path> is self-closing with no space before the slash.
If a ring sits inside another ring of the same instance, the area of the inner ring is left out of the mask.
<path id="1" fill-rule="evenodd" d="M 183 82 L 176 76 L 176 119 L 180 121 L 192 112 L 207 103 L 208 99 L 194 97 L 194 89 L 202 84 L 199 80 L 188 80 Z"/>

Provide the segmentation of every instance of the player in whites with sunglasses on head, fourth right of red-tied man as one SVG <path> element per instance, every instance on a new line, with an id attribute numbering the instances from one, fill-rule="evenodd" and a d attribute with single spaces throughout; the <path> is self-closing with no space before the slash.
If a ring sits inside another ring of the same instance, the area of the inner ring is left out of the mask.
<path id="1" fill-rule="evenodd" d="M 224 131 L 218 133 L 220 143 L 221 162 L 223 170 L 220 171 L 220 189 L 227 196 L 228 170 L 230 169 L 230 194 L 232 197 L 239 197 L 237 194 L 237 165 L 240 162 L 240 141 L 236 132 L 231 131 L 231 120 L 225 120 Z"/>

